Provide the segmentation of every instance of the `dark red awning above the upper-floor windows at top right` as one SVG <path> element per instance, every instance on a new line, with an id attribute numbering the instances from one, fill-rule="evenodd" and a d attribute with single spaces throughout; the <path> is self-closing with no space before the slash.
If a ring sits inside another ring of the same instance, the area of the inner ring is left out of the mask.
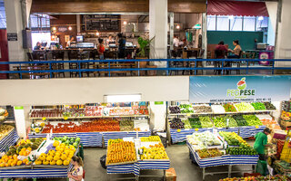
<path id="1" fill-rule="evenodd" d="M 210 15 L 250 15 L 269 16 L 264 2 L 207 1 L 207 14 Z"/>

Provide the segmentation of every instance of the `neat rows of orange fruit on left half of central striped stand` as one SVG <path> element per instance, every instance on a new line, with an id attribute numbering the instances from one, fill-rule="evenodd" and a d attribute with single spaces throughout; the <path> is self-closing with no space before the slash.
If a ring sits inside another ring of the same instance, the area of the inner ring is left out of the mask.
<path id="1" fill-rule="evenodd" d="M 135 143 L 119 139 L 110 141 L 107 147 L 106 165 L 136 161 Z"/>

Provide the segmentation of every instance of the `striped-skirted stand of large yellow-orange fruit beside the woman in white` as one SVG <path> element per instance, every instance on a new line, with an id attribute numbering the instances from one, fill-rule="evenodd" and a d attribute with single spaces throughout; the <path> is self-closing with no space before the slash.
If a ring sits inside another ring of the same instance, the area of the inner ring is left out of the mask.
<path id="1" fill-rule="evenodd" d="M 80 138 L 31 138 L 21 140 L 2 155 L 0 178 L 66 177 Z"/>

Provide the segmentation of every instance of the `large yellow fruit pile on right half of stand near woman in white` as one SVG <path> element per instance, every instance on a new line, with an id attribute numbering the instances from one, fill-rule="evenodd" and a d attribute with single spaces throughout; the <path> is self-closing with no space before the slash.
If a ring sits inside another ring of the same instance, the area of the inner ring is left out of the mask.
<path id="1" fill-rule="evenodd" d="M 71 158 L 75 155 L 75 147 L 65 146 L 64 143 L 55 141 L 53 146 L 54 149 L 48 151 L 47 154 L 42 153 L 40 157 L 35 160 L 35 165 L 51 165 L 51 166 L 68 166 Z"/>

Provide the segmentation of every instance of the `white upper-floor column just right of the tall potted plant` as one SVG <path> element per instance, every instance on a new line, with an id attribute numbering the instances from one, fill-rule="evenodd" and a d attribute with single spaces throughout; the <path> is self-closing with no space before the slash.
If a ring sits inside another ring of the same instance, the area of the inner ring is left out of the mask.
<path id="1" fill-rule="evenodd" d="M 167 55 L 167 0 L 149 0 L 149 38 L 155 40 L 150 47 L 151 59 L 166 59 Z M 166 62 L 155 62 L 166 67 Z"/>

